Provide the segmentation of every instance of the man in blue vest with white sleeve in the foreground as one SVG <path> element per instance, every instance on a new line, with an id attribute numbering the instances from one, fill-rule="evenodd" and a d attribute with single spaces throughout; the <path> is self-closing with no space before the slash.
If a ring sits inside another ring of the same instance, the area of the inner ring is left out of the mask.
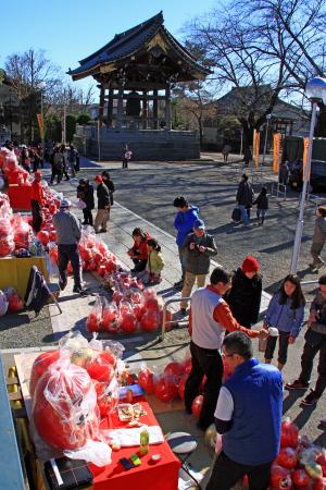
<path id="1" fill-rule="evenodd" d="M 222 350 L 234 372 L 217 400 L 215 426 L 223 443 L 206 490 L 229 490 L 244 475 L 249 488 L 267 490 L 280 443 L 281 375 L 252 356 L 243 332 L 229 333 Z"/>

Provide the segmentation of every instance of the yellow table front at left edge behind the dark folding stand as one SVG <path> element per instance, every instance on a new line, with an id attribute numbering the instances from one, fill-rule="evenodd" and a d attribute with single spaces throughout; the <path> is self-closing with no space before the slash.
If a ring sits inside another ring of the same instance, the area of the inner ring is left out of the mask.
<path id="1" fill-rule="evenodd" d="M 0 259 L 0 290 L 14 287 L 18 295 L 24 298 L 29 278 L 30 268 L 36 266 L 46 281 L 49 279 L 47 261 L 45 257 L 24 257 Z"/>

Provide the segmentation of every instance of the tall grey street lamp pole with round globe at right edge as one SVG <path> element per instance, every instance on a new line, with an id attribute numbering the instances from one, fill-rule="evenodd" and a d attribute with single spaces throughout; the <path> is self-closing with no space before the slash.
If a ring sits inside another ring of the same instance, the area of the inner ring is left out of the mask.
<path id="1" fill-rule="evenodd" d="M 311 122 L 310 122 L 306 164 L 305 164 L 304 175 L 303 175 L 303 186 L 302 186 L 302 192 L 301 192 L 299 217 L 298 217 L 298 221 L 297 221 L 296 237 L 294 237 L 294 245 L 293 245 L 293 253 L 292 253 L 292 260 L 291 260 L 291 269 L 290 269 L 291 274 L 297 273 L 297 269 L 298 269 L 300 248 L 301 248 L 301 240 L 302 240 L 302 233 L 303 233 L 303 223 L 304 223 L 303 218 L 304 218 L 304 207 L 305 207 L 305 199 L 306 199 L 306 189 L 308 189 L 308 184 L 309 184 L 309 180 L 310 180 L 310 171 L 311 171 L 311 159 L 312 159 L 314 130 L 315 130 L 315 124 L 316 124 L 317 102 L 319 100 L 323 100 L 324 103 L 326 102 L 326 79 L 322 78 L 319 76 L 312 78 L 306 84 L 305 93 L 312 102 L 312 115 L 311 115 Z"/>

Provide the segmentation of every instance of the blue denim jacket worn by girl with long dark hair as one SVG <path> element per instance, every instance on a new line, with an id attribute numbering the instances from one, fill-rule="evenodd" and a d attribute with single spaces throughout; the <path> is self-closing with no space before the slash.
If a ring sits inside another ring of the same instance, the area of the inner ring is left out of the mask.
<path id="1" fill-rule="evenodd" d="M 280 305 L 278 303 L 279 297 L 280 293 L 272 297 L 265 316 L 265 323 L 297 338 L 303 326 L 304 306 L 291 309 L 292 299 L 289 297 L 285 305 Z"/>

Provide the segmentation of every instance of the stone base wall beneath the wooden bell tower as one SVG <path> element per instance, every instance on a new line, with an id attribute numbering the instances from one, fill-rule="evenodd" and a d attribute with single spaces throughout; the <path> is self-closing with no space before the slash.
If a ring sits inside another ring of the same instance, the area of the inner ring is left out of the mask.
<path id="1" fill-rule="evenodd" d="M 77 126 L 74 143 L 82 155 L 98 158 L 95 126 Z M 134 160 L 189 160 L 200 158 L 199 139 L 190 131 L 112 131 L 100 132 L 101 160 L 121 160 L 125 146 Z"/>

